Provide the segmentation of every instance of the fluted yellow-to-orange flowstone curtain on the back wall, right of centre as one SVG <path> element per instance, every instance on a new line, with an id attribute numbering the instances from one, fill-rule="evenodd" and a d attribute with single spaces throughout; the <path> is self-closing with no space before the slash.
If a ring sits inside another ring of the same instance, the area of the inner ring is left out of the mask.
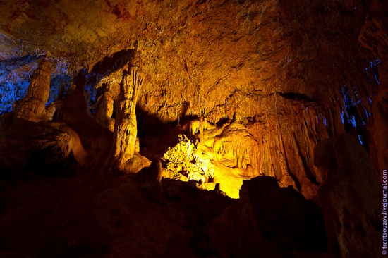
<path id="1" fill-rule="evenodd" d="M 334 128 L 329 109 L 313 102 L 271 95 L 264 103 L 265 112 L 255 118 L 219 126 L 204 121 L 204 144 L 227 166 L 243 169 L 242 176 L 274 176 L 282 186 L 293 185 L 313 197 L 325 180 L 313 163 L 313 149 L 344 131 L 343 123 L 339 123 L 341 130 Z M 337 119 L 341 121 L 341 116 Z M 199 138 L 200 120 L 189 123 L 187 131 Z"/>

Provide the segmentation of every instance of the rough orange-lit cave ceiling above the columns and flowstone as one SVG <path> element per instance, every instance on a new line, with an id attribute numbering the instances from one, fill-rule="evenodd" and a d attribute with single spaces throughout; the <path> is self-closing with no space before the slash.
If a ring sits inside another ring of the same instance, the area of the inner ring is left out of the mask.
<path id="1" fill-rule="evenodd" d="M 121 70 L 137 49 L 147 75 L 138 105 L 162 121 L 263 117 L 273 97 L 302 109 L 333 106 L 338 89 L 360 84 L 374 60 L 358 43 L 367 4 L 1 1 L 2 79 L 28 78 L 49 53 L 54 74 L 71 78 L 85 68 L 94 88 L 116 98 Z"/>

